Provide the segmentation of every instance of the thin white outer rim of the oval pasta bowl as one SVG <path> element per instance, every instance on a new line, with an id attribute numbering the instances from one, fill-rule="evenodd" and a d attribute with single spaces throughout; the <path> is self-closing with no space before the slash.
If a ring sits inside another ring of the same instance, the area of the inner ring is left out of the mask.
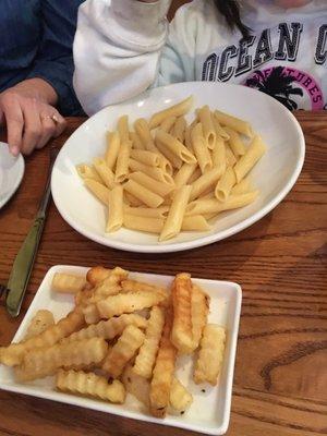
<path id="1" fill-rule="evenodd" d="M 190 84 L 191 86 L 192 86 L 192 84 L 197 84 L 198 85 L 198 82 L 186 82 L 186 83 Z M 168 86 L 162 86 L 161 89 L 171 88 L 171 87 L 178 86 L 178 85 L 180 85 L 180 84 L 178 83 L 178 84 L 172 84 L 172 85 L 168 85 Z M 242 87 L 243 88 L 242 85 L 225 84 L 223 86 Z M 155 88 L 155 89 L 159 89 L 159 88 Z M 254 92 L 254 93 L 259 93 L 259 90 L 255 90 L 255 89 L 251 89 L 251 90 Z M 146 97 L 150 97 L 150 95 L 152 95 L 152 90 L 148 90 L 148 92 L 140 95 L 136 100 L 142 99 L 145 96 Z M 287 194 L 291 191 L 291 189 L 295 184 L 295 182 L 296 182 L 296 180 L 298 180 L 298 178 L 299 178 L 299 175 L 301 173 L 303 164 L 304 164 L 305 140 L 304 140 L 304 135 L 303 135 L 302 129 L 301 129 L 298 120 L 278 100 L 276 100 L 275 98 L 272 98 L 272 97 L 270 97 L 268 95 L 266 95 L 266 97 L 268 99 L 270 99 L 272 105 L 277 105 L 277 106 L 280 107 L 280 110 L 283 111 L 286 117 L 288 117 L 288 119 L 291 120 L 292 124 L 296 129 L 296 133 L 299 134 L 299 140 L 300 140 L 300 144 L 299 144 L 300 154 L 299 154 L 299 159 L 296 161 L 295 168 L 294 168 L 291 177 L 289 178 L 288 182 L 283 186 L 283 189 L 280 190 L 280 192 L 269 203 L 267 203 L 266 206 L 262 207 L 259 210 L 257 210 L 251 217 L 243 219 L 241 222 L 235 223 L 235 225 L 231 226 L 230 228 L 228 228 L 226 230 L 218 231 L 217 233 L 209 234 L 209 235 L 206 235 L 206 237 L 201 237 L 198 239 L 191 240 L 191 241 L 178 242 L 178 243 L 169 243 L 169 244 L 158 244 L 158 245 L 145 245 L 145 244 L 141 245 L 141 244 L 135 244 L 135 243 L 129 244 L 129 243 L 125 243 L 125 242 L 122 242 L 122 241 L 114 241 L 114 240 L 111 240 L 109 238 L 105 238 L 102 235 L 97 235 L 97 234 L 93 233 L 92 231 L 86 230 L 77 221 L 72 219 L 70 217 L 69 213 L 65 211 L 64 207 L 61 207 L 60 198 L 57 198 L 56 185 L 55 185 L 53 177 L 52 177 L 51 178 L 51 191 L 52 191 L 52 197 L 53 197 L 53 202 L 56 204 L 56 207 L 58 208 L 58 210 L 59 210 L 60 215 L 62 216 L 62 218 L 73 229 L 75 229 L 77 232 L 80 232 L 84 237 L 86 237 L 86 238 L 88 238 L 88 239 L 90 239 L 90 240 L 93 240 L 93 241 L 95 241 L 95 242 L 97 242 L 97 243 L 99 243 L 101 245 L 111 246 L 113 249 L 129 251 L 129 252 L 136 252 L 136 253 L 173 253 L 173 252 L 191 250 L 191 249 L 196 249 L 196 247 L 199 247 L 199 246 L 208 245 L 208 244 L 211 244 L 214 242 L 218 242 L 218 241 L 221 241 L 221 240 L 223 240 L 226 238 L 232 237 L 235 233 L 239 233 L 240 231 L 246 229 L 247 227 L 252 226 L 253 223 L 255 223 L 256 221 L 258 221 L 259 219 L 265 217 L 267 214 L 269 214 L 269 211 L 272 210 L 287 196 Z M 130 101 L 131 102 L 135 101 L 135 98 L 130 100 Z M 130 101 L 126 101 L 126 102 L 130 102 Z M 116 105 L 116 106 L 118 106 L 118 105 Z M 114 108 L 114 106 L 111 106 L 111 107 Z M 97 113 L 100 113 L 100 112 L 104 112 L 104 111 L 107 111 L 107 110 L 108 110 L 108 107 L 101 109 L 101 111 L 99 111 Z M 88 120 L 86 120 L 85 123 L 92 122 L 93 118 L 96 117 L 97 113 L 94 114 L 93 117 L 90 117 Z M 83 125 L 84 125 L 84 123 L 77 130 L 80 130 Z M 74 133 L 73 133 L 73 135 L 74 135 Z M 61 152 L 60 152 L 60 154 L 61 154 Z M 57 159 L 60 158 L 60 154 L 58 155 Z M 55 166 L 56 166 L 56 164 L 55 164 Z"/>

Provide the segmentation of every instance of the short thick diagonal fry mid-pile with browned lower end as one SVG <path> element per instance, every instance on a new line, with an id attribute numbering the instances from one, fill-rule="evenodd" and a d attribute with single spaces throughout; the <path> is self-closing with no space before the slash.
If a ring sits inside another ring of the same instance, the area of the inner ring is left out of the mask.
<path id="1" fill-rule="evenodd" d="M 119 377 L 143 341 L 144 332 L 140 328 L 129 325 L 108 353 L 102 370 L 113 378 Z"/>

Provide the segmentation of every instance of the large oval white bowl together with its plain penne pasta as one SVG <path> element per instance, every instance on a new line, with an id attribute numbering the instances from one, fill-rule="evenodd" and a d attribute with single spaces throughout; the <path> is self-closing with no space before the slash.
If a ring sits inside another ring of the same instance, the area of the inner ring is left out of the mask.
<path id="1" fill-rule="evenodd" d="M 64 220 L 86 238 L 177 252 L 267 215 L 295 183 L 304 154 L 298 121 L 274 98 L 180 83 L 88 119 L 62 147 L 51 189 Z"/>

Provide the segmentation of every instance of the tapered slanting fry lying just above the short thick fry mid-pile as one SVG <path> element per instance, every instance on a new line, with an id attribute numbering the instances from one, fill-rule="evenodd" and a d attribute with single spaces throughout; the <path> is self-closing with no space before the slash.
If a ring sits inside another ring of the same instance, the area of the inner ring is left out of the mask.
<path id="1" fill-rule="evenodd" d="M 75 331 L 62 341 L 72 342 L 75 340 L 96 337 L 110 340 L 121 335 L 124 328 L 129 325 L 145 329 L 147 326 L 147 320 L 143 316 L 136 314 L 123 314 L 108 320 L 101 320 L 98 324 L 90 324 L 88 327 L 82 328 L 80 331 Z"/>

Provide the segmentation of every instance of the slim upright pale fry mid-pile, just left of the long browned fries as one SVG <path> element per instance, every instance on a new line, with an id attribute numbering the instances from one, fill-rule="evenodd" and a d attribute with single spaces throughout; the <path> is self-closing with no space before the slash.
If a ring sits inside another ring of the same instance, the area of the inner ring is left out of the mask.
<path id="1" fill-rule="evenodd" d="M 165 311 L 154 306 L 147 323 L 145 340 L 135 359 L 134 372 L 145 378 L 150 378 L 156 362 L 159 342 L 165 323 Z"/>

